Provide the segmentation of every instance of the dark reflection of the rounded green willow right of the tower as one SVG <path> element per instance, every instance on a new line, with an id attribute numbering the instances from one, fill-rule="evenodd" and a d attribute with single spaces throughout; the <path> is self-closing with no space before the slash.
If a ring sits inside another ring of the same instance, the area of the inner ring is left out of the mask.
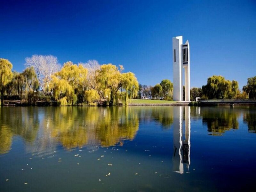
<path id="1" fill-rule="evenodd" d="M 238 129 L 238 116 L 232 108 L 201 108 L 203 124 L 212 135 L 222 135 L 225 131 Z"/>

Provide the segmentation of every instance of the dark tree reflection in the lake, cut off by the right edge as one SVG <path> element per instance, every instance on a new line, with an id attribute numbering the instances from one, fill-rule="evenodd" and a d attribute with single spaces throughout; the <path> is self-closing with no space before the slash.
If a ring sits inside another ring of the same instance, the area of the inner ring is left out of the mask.
<path id="1" fill-rule="evenodd" d="M 244 113 L 243 121 L 248 125 L 248 131 L 256 133 L 256 110 L 255 107 L 249 107 L 246 113 Z"/>

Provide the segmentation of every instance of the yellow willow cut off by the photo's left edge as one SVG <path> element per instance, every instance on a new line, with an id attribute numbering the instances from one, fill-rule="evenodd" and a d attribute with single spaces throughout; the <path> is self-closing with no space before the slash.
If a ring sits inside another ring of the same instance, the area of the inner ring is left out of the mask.
<path id="1" fill-rule="evenodd" d="M 7 59 L 0 58 L 0 94 L 1 105 L 4 105 L 5 86 L 12 79 L 12 63 Z"/>

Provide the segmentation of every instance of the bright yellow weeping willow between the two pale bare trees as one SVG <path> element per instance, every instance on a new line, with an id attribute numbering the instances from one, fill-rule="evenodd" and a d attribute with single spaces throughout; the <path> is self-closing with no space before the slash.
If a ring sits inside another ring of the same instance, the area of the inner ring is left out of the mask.
<path id="1" fill-rule="evenodd" d="M 87 69 L 83 65 L 64 63 L 61 70 L 52 76 L 50 88 L 59 105 L 75 105 L 83 102 L 86 90 Z"/>

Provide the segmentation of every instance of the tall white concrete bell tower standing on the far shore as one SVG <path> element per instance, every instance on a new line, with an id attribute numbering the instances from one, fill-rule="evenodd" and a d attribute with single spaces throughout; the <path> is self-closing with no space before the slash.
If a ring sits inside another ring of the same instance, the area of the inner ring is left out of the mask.
<path id="1" fill-rule="evenodd" d="M 190 58 L 188 40 L 182 44 L 182 36 L 172 38 L 173 100 L 183 101 L 182 68 L 185 69 L 185 101 L 190 101 Z"/>

